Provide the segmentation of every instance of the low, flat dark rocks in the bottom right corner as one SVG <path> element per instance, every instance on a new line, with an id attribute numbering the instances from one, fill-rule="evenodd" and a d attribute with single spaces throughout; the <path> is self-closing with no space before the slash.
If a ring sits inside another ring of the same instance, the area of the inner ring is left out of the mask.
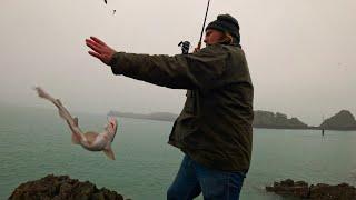
<path id="1" fill-rule="evenodd" d="M 329 186 L 318 183 L 309 186 L 307 182 L 287 179 L 266 187 L 268 192 L 275 192 L 283 197 L 295 197 L 312 200 L 356 200 L 356 188 L 347 183 Z"/>

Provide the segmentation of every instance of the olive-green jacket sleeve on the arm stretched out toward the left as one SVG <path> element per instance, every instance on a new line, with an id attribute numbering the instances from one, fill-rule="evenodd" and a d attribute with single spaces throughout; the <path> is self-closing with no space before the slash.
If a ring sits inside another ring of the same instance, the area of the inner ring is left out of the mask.
<path id="1" fill-rule="evenodd" d="M 221 46 L 209 46 L 197 53 L 149 56 L 117 52 L 110 66 L 115 74 L 123 74 L 174 89 L 214 88 L 226 68 L 227 52 Z"/>

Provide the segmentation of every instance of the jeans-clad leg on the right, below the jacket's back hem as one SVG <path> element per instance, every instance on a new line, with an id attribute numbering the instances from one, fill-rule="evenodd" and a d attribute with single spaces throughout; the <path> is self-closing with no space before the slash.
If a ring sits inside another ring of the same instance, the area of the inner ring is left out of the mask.
<path id="1" fill-rule="evenodd" d="M 195 162 L 197 178 L 205 200 L 238 200 L 245 173 L 206 168 Z"/>

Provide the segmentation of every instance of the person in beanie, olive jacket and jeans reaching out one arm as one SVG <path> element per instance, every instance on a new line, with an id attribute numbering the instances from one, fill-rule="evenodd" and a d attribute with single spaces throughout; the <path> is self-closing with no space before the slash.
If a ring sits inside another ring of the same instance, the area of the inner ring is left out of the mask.
<path id="1" fill-rule="evenodd" d="M 239 24 L 220 14 L 206 28 L 206 48 L 194 53 L 148 56 L 116 52 L 86 40 L 89 53 L 122 74 L 158 86 L 187 89 L 187 100 L 168 143 L 184 153 L 167 199 L 239 199 L 250 166 L 254 88 Z"/>

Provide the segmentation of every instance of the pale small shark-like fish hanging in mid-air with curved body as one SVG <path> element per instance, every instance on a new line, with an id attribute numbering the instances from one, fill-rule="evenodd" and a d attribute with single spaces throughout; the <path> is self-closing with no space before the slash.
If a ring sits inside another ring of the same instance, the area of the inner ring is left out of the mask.
<path id="1" fill-rule="evenodd" d="M 116 118 L 109 118 L 108 123 L 105 127 L 105 131 L 101 133 L 88 131 L 83 133 L 78 126 L 78 118 L 72 118 L 59 99 L 52 98 L 44 90 L 37 87 L 34 88 L 40 98 L 47 99 L 52 102 L 59 111 L 59 116 L 67 121 L 72 134 L 71 141 L 75 144 L 80 144 L 89 151 L 103 151 L 103 153 L 111 160 L 115 160 L 115 154 L 111 149 L 111 142 L 113 141 L 117 132 L 118 122 Z"/>

